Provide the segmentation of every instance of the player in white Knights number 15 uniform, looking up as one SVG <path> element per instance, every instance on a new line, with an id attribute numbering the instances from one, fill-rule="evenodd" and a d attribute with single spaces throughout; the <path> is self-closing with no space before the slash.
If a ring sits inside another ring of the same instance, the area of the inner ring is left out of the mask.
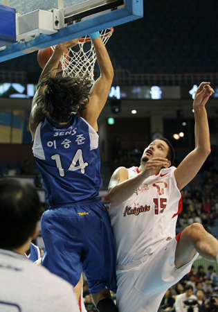
<path id="1" fill-rule="evenodd" d="M 194 98 L 196 147 L 175 168 L 174 150 L 156 139 L 140 166 L 118 168 L 109 183 L 109 216 L 117 251 L 119 312 L 156 312 L 173 284 L 190 271 L 198 254 L 217 260 L 218 241 L 194 223 L 176 236 L 180 190 L 198 173 L 210 154 L 205 105 L 214 93 L 201 83 Z"/>

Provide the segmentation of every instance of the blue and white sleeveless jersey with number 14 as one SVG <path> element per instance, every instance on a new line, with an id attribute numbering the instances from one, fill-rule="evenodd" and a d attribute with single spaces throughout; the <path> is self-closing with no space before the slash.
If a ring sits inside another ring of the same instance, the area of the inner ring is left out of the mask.
<path id="1" fill-rule="evenodd" d="M 101 187 L 97 132 L 80 116 L 67 123 L 45 118 L 35 132 L 33 155 L 48 205 L 95 198 Z"/>

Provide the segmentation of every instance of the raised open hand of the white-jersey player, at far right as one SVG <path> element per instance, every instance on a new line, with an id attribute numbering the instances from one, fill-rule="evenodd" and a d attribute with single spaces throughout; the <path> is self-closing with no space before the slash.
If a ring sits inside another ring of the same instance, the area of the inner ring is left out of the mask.
<path id="1" fill-rule="evenodd" d="M 212 94 L 214 94 L 215 91 L 210 87 L 210 83 L 201 83 L 199 87 L 197 88 L 197 92 L 194 97 L 194 107 L 200 107 L 200 106 L 205 106 L 208 99 Z"/>

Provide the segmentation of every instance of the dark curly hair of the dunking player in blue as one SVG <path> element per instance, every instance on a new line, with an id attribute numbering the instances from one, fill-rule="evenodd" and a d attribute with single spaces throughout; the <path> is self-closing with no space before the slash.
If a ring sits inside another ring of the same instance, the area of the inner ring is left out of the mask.
<path id="1" fill-rule="evenodd" d="M 89 102 L 92 80 L 89 73 L 83 76 L 52 77 L 52 69 L 39 86 L 46 86 L 44 94 L 38 96 L 37 105 L 42 108 L 42 114 L 56 121 L 67 121 L 85 109 Z"/>

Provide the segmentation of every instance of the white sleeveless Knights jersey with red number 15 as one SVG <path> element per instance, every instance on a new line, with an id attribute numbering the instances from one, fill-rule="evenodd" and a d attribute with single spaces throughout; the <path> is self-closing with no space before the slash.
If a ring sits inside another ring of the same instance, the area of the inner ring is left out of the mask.
<path id="1" fill-rule="evenodd" d="M 125 202 L 110 205 L 118 265 L 152 254 L 163 241 L 174 238 L 181 210 L 175 169 L 174 166 L 161 169 L 156 175 L 147 177 Z M 139 173 L 138 167 L 128 171 L 129 179 Z"/>

